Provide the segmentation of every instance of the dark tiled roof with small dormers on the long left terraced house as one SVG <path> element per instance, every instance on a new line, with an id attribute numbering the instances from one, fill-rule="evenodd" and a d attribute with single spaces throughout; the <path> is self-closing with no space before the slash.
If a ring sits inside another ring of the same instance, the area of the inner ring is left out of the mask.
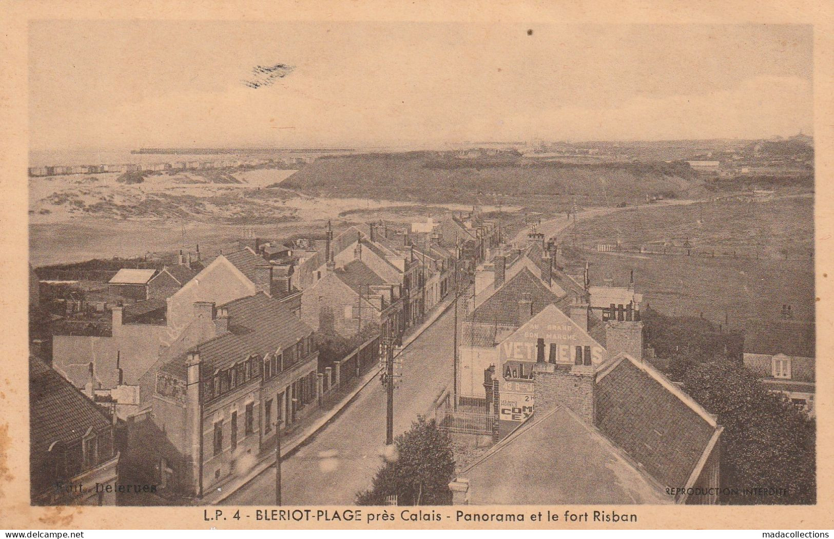
<path id="1" fill-rule="evenodd" d="M 204 372 L 224 369 L 251 354 L 264 356 L 276 349 L 293 346 L 313 330 L 301 322 L 283 303 L 263 292 L 241 297 L 219 307 L 229 311 L 229 333 L 199 344 Z M 185 354 L 168 362 L 163 371 L 185 377 Z"/>

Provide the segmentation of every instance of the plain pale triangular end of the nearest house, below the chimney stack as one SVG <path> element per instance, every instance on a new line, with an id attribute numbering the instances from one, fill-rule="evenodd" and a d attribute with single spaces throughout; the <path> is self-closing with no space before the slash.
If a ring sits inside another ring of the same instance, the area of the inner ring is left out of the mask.
<path id="1" fill-rule="evenodd" d="M 673 502 L 566 407 L 530 417 L 458 475 L 469 480 L 474 505 Z"/>

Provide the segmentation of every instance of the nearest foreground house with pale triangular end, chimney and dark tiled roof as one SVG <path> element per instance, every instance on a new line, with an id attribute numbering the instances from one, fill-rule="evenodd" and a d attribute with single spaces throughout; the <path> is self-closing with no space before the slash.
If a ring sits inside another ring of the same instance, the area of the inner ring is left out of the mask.
<path id="1" fill-rule="evenodd" d="M 716 503 L 723 427 L 649 363 L 537 362 L 533 380 L 535 412 L 450 483 L 453 503 Z"/>

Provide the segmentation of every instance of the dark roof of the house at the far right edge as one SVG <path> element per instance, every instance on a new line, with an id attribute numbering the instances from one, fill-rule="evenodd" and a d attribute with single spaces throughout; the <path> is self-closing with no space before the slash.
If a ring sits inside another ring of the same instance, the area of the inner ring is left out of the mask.
<path id="1" fill-rule="evenodd" d="M 758 320 L 745 328 L 747 354 L 815 357 L 816 329 L 813 322 L 798 320 Z"/>

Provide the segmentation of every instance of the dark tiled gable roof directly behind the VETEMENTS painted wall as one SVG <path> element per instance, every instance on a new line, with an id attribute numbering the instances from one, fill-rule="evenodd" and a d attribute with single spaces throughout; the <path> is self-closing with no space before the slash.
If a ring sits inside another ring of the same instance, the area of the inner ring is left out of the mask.
<path id="1" fill-rule="evenodd" d="M 538 277 L 535 277 L 526 267 L 515 274 L 515 277 L 505 282 L 492 296 L 472 313 L 475 322 L 495 323 L 502 325 L 520 326 L 519 300 L 522 294 L 530 294 L 533 302 L 532 316 L 535 316 L 548 305 L 555 304 L 562 307 L 565 301 L 545 287 Z"/>

